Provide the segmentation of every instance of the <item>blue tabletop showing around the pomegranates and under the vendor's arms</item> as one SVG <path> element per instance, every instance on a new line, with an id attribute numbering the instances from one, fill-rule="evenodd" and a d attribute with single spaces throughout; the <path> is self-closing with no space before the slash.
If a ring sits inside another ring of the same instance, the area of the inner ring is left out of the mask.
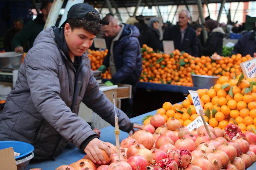
<path id="1" fill-rule="evenodd" d="M 145 114 L 142 114 L 140 116 L 136 116 L 134 118 L 131 118 L 131 121 L 134 123 L 142 124 L 142 118 L 144 118 L 147 115 L 154 115 L 156 114 L 156 110 L 152 112 L 148 112 Z M 104 142 L 110 142 L 115 145 L 115 128 L 112 126 L 108 126 L 106 128 L 100 129 L 100 140 Z M 120 131 L 119 139 L 120 142 L 128 137 L 128 133 Z M 60 165 L 69 165 L 70 163 L 77 162 L 78 160 L 82 159 L 84 157 L 85 153 L 82 150 L 79 150 L 78 148 L 75 149 L 67 149 L 65 148 L 63 150 L 63 153 L 57 156 L 54 160 L 48 160 L 48 161 L 41 161 L 36 163 L 30 163 L 28 165 L 28 169 L 32 168 L 42 168 L 44 170 L 55 170 Z M 256 162 L 253 163 L 247 170 L 255 170 L 256 169 Z"/>

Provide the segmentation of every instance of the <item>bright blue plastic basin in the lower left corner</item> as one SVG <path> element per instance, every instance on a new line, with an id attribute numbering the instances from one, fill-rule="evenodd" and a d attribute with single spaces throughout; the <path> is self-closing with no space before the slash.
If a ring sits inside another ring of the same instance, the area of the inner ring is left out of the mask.
<path id="1" fill-rule="evenodd" d="M 23 158 L 33 152 L 34 146 L 20 141 L 0 141 L 0 149 L 13 147 L 15 152 L 20 153 L 20 156 L 16 156 L 15 159 Z"/>

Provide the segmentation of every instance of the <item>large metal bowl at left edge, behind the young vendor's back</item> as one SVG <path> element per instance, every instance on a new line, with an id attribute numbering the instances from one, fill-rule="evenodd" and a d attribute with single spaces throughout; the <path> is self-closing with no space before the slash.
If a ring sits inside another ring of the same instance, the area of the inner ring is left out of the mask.
<path id="1" fill-rule="evenodd" d="M 23 53 L 3 52 L 0 53 L 0 68 L 19 69 Z"/>

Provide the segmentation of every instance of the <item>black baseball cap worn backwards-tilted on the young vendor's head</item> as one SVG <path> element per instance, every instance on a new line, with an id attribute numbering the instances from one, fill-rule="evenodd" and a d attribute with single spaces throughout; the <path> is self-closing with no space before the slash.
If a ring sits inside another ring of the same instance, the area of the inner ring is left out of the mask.
<path id="1" fill-rule="evenodd" d="M 99 12 L 96 9 L 94 9 L 94 7 L 89 5 L 88 3 L 78 3 L 78 4 L 73 5 L 69 9 L 68 14 L 67 14 L 67 20 L 72 19 L 72 18 L 76 18 L 76 19 L 86 19 L 86 20 L 89 20 L 89 21 L 99 21 L 100 24 L 103 24 L 103 25 L 108 25 L 109 24 L 106 21 L 99 20 L 99 19 L 93 18 L 91 16 L 86 16 L 86 14 L 88 12 L 95 12 L 98 15 L 100 15 Z M 67 20 L 61 25 L 61 27 L 64 27 L 64 25 L 67 23 Z"/>

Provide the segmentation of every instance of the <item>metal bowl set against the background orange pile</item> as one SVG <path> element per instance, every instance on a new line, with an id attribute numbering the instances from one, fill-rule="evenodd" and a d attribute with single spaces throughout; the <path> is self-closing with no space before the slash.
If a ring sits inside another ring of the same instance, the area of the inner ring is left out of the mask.
<path id="1" fill-rule="evenodd" d="M 218 76 L 191 75 L 194 87 L 210 88 L 218 80 Z"/>

